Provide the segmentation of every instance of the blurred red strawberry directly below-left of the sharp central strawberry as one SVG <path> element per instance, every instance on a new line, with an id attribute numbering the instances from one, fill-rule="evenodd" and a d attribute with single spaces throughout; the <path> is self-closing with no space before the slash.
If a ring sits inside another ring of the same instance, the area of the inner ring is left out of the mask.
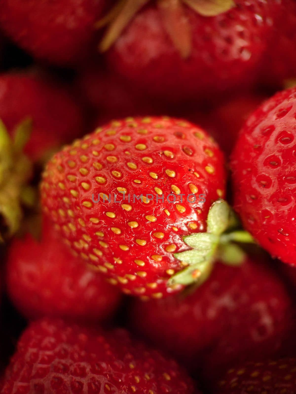
<path id="1" fill-rule="evenodd" d="M 120 301 L 118 290 L 71 255 L 48 224 L 41 242 L 29 234 L 13 240 L 6 271 L 8 294 L 27 318 L 102 320 L 113 314 Z"/>

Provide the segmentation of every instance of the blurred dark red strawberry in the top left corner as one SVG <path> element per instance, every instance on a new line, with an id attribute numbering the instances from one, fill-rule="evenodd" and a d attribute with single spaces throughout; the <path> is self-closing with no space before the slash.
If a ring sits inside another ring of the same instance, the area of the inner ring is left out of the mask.
<path id="1" fill-rule="evenodd" d="M 69 65 L 88 55 L 104 4 L 105 0 L 4 0 L 0 26 L 34 57 Z"/>

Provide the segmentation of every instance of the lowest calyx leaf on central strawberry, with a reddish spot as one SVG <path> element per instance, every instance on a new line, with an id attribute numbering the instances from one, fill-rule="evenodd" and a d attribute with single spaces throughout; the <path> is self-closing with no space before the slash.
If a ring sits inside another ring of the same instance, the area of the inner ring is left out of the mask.
<path id="1" fill-rule="evenodd" d="M 209 260 L 204 260 L 199 264 L 194 264 L 193 266 L 182 269 L 182 271 L 170 277 L 168 286 L 172 284 L 184 284 L 187 286 L 188 284 L 199 281 L 204 276 L 203 274 L 208 272 L 209 265 L 211 265 L 211 262 Z"/>

